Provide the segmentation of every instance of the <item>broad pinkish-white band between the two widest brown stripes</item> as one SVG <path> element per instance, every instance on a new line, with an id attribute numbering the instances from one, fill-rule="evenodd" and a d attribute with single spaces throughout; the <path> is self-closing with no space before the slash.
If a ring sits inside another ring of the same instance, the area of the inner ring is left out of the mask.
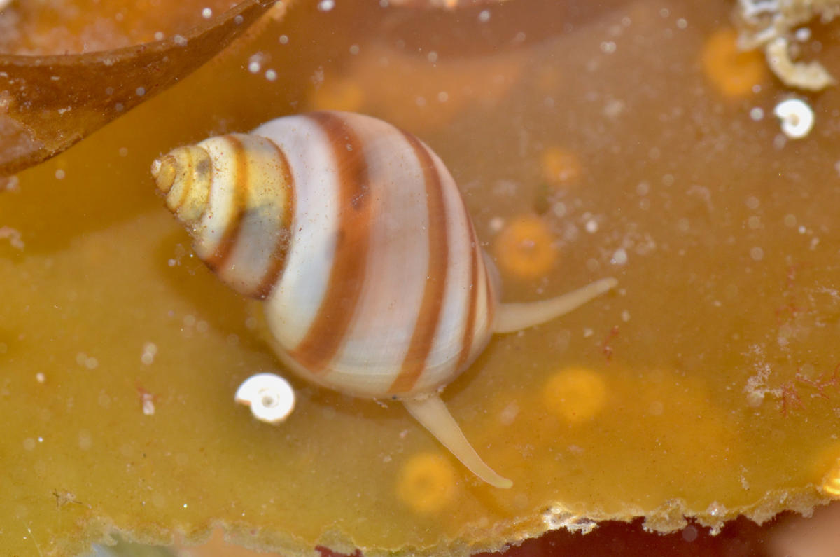
<path id="1" fill-rule="evenodd" d="M 360 114 L 341 114 L 363 147 L 373 204 L 365 283 L 328 380 L 384 396 L 402 368 L 428 276 L 428 210 L 423 169 L 405 135 Z M 383 156 L 386 154 L 386 156 Z"/>

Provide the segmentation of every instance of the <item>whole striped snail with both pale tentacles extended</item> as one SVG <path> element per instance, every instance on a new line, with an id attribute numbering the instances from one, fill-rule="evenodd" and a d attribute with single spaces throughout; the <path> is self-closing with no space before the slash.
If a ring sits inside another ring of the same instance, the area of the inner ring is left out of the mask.
<path id="1" fill-rule="evenodd" d="M 440 398 L 494 333 L 612 289 L 501 304 L 494 263 L 440 158 L 362 114 L 285 116 L 178 147 L 152 164 L 167 207 L 207 267 L 263 300 L 286 365 L 344 394 L 402 401 L 481 480 L 510 487 Z"/>

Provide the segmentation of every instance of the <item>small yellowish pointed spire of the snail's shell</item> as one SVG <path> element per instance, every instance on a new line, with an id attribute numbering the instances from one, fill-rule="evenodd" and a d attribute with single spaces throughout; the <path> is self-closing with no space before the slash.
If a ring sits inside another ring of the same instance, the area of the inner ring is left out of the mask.
<path id="1" fill-rule="evenodd" d="M 161 156 L 152 175 L 197 256 L 239 293 L 265 298 L 291 238 L 294 188 L 283 152 L 264 137 L 220 135 Z"/>

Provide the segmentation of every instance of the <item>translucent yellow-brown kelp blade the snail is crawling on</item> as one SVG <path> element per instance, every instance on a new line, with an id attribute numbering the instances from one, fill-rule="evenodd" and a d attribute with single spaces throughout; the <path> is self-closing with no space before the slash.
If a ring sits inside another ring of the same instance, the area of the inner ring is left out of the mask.
<path id="1" fill-rule="evenodd" d="M 3 547 L 78 554 L 111 528 L 166 543 L 221 524 L 263 548 L 464 554 L 589 518 L 717 525 L 836 496 L 840 94 L 787 90 L 738 55 L 731 8 L 301 3 L 6 183 Z M 444 30 L 411 31 L 432 24 Z M 821 59 L 840 60 L 822 32 Z M 773 114 L 791 97 L 816 114 L 799 140 Z M 192 256 L 149 165 L 303 109 L 427 141 L 505 300 L 618 278 L 496 337 L 444 391 L 511 490 L 481 484 L 400 405 L 293 377 L 279 426 L 234 404 L 249 375 L 284 371 L 253 307 Z"/>

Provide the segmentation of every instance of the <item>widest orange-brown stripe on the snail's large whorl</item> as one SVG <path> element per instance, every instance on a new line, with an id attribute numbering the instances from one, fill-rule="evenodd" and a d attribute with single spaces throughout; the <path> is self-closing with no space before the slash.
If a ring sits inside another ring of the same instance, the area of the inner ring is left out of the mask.
<path id="1" fill-rule="evenodd" d="M 307 117 L 321 127 L 333 149 L 339 172 L 339 230 L 324 298 L 306 335 L 290 353 L 312 374 L 323 374 L 344 342 L 365 283 L 373 204 L 365 150 L 349 123 L 329 112 Z"/>

